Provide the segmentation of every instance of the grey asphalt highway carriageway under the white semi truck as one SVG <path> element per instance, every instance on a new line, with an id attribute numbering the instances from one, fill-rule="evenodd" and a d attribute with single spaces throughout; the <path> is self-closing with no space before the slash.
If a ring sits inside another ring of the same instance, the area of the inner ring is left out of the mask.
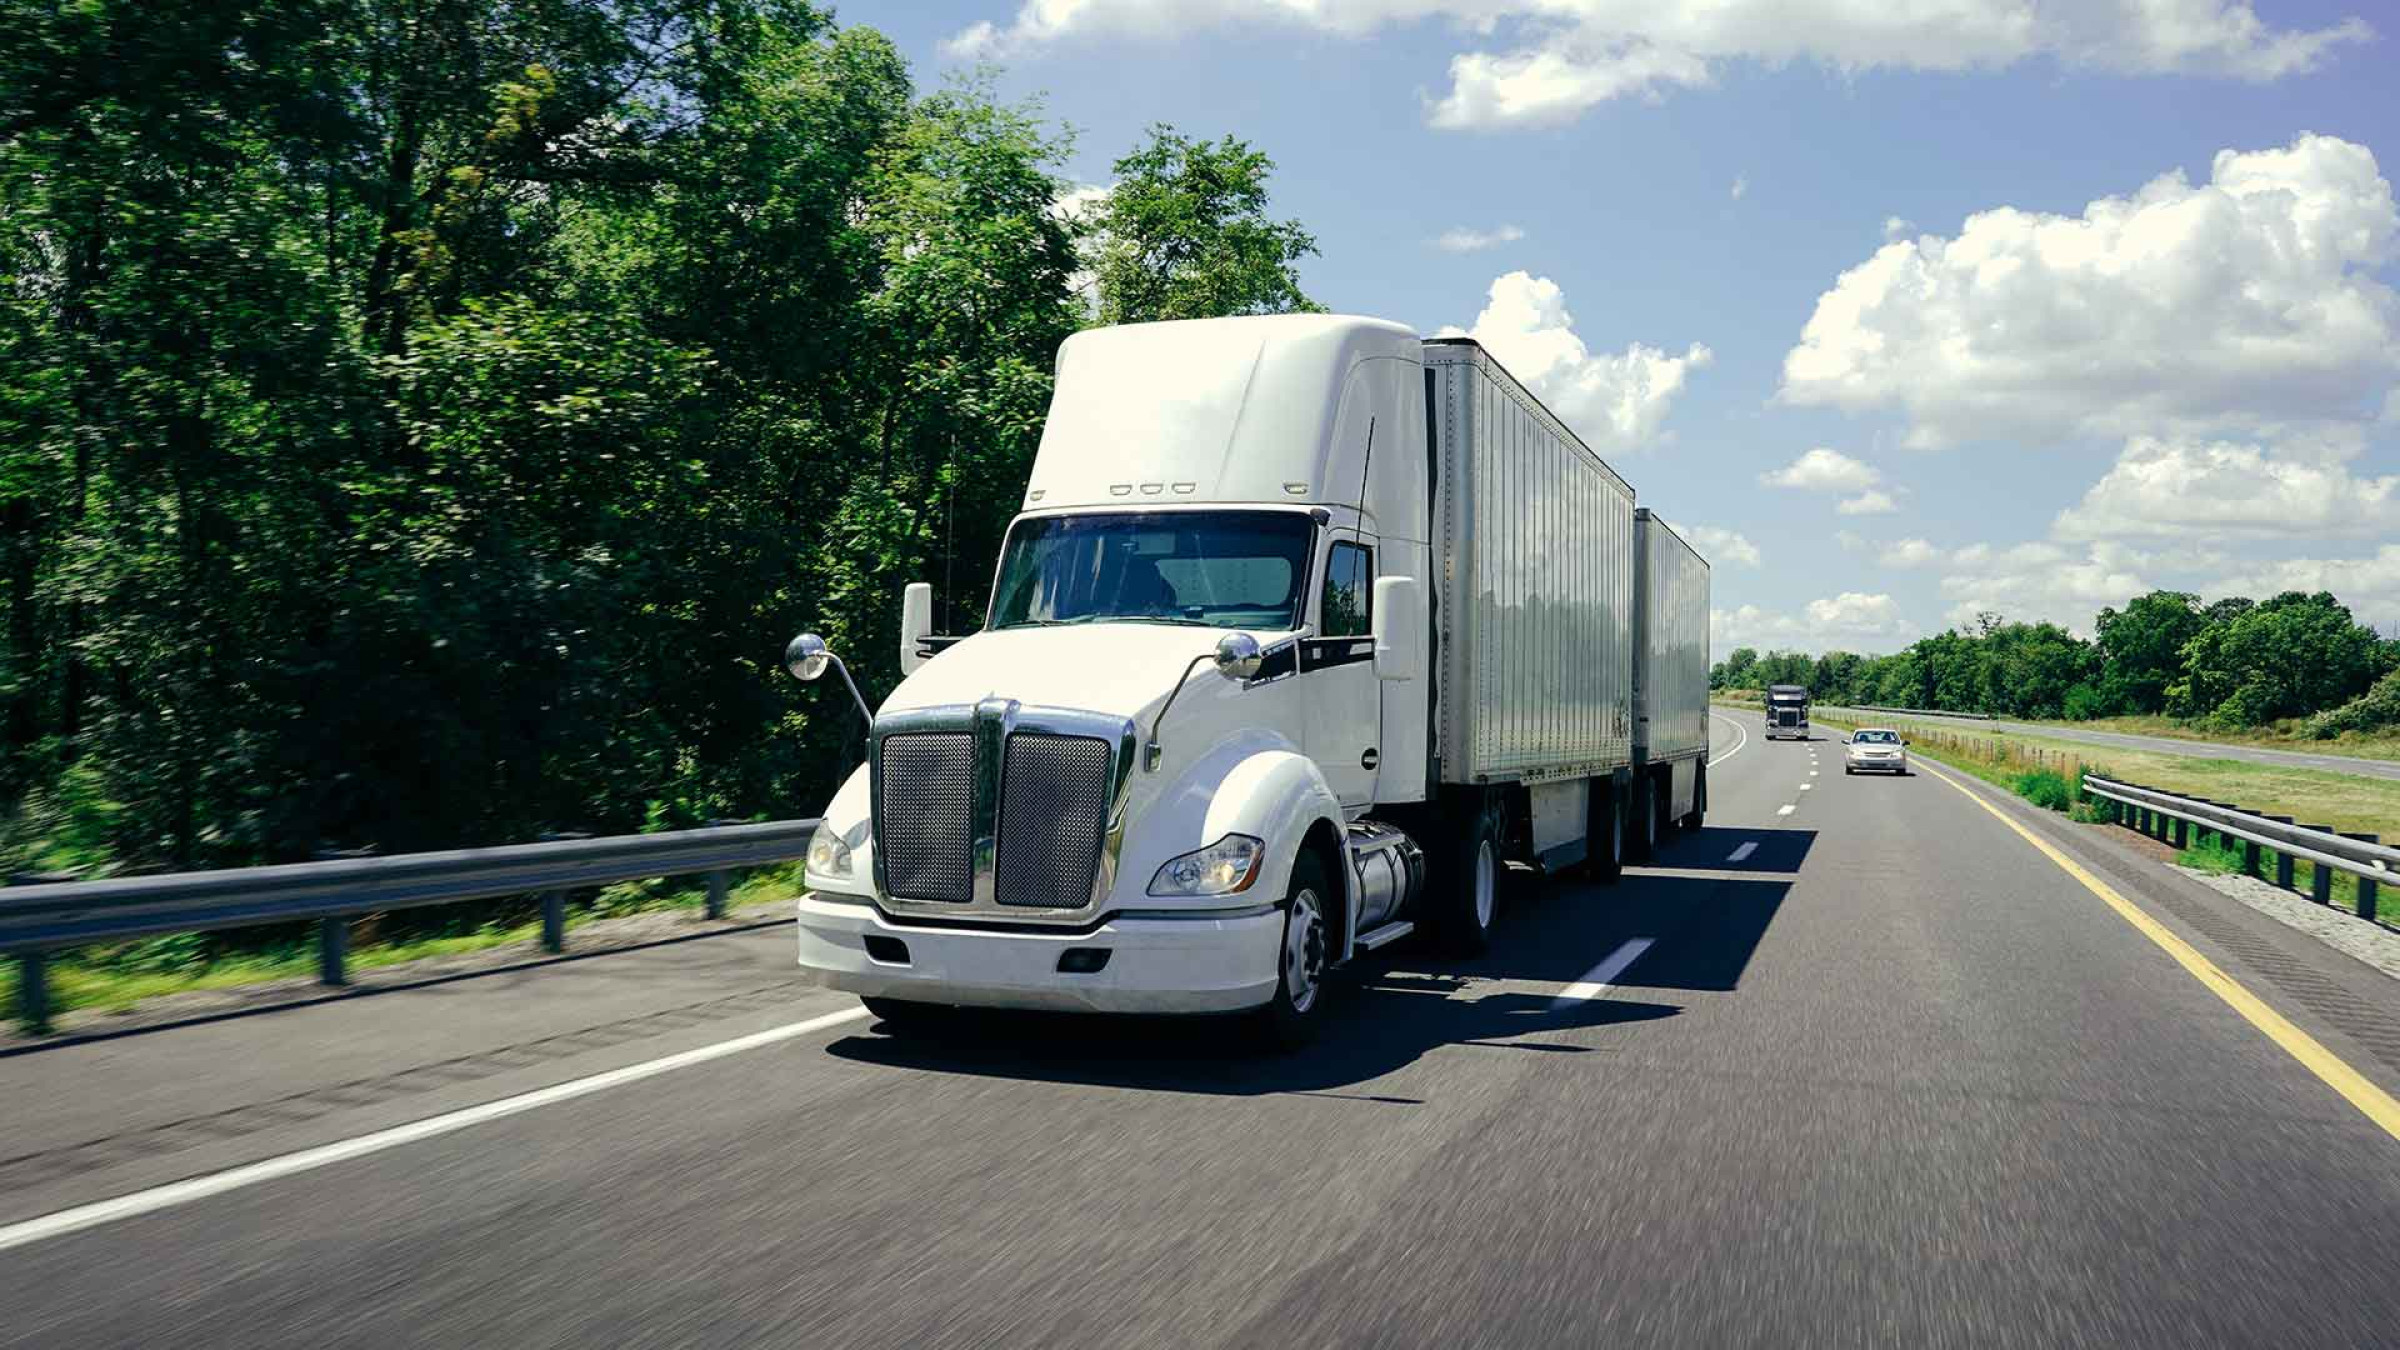
<path id="1" fill-rule="evenodd" d="M 2390 980 L 1718 728 L 1661 865 L 1286 1059 L 898 1040 L 780 925 L 0 1057 L 0 1343 L 2390 1343 L 2400 1139 L 2002 814 L 2369 1093 Z"/>

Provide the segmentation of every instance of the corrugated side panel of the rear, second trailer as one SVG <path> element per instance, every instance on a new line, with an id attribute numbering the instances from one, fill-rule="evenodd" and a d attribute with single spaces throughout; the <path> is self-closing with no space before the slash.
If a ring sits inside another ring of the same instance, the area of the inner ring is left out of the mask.
<path id="1" fill-rule="evenodd" d="M 1634 512 L 1634 754 L 1709 749 L 1709 562 L 1649 507 Z"/>

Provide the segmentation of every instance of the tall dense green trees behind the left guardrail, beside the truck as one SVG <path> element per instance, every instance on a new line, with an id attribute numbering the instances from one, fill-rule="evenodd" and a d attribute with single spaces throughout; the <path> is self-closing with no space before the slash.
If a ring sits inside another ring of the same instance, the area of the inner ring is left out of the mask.
<path id="1" fill-rule="evenodd" d="M 0 867 L 806 814 L 785 639 L 979 622 L 1058 344 L 1310 307 L 1262 154 L 804 2 L 7 14 Z"/>

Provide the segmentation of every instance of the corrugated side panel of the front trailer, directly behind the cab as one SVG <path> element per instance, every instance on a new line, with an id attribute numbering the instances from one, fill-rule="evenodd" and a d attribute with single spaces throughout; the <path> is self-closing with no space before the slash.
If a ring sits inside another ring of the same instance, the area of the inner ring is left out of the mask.
<path id="1" fill-rule="evenodd" d="M 1442 783 L 1632 761 L 1634 495 L 1481 346 L 1426 344 Z"/>

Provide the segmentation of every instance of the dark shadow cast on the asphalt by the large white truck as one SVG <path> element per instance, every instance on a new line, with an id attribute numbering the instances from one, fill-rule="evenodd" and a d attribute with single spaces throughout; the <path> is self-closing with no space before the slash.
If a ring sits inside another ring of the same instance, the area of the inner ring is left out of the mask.
<path id="1" fill-rule="evenodd" d="M 1291 1055 L 1262 1050 L 1234 1019 L 1020 1011 L 960 1011 L 910 1035 L 878 1028 L 826 1052 L 888 1069 L 1210 1095 L 1337 1093 L 1452 1047 L 1606 1064 L 1637 1045 L 1642 1023 L 1682 1011 L 1625 990 L 1733 992 L 1786 891 L 1783 879 L 1670 874 L 1519 891 L 1483 956 L 1404 942 L 1339 975 L 1320 1038 Z M 1651 946 L 1606 997 L 1560 999 L 1637 937 Z M 1404 1086 L 1363 1098 L 1416 1105 Z"/>

